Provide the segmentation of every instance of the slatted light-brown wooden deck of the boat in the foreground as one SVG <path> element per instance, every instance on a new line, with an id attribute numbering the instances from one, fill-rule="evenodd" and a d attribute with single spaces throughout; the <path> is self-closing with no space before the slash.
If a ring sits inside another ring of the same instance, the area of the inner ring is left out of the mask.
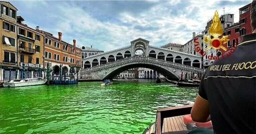
<path id="1" fill-rule="evenodd" d="M 162 133 L 188 130 L 183 124 L 184 116 L 185 115 L 164 118 Z M 154 134 L 154 132 L 155 124 L 150 127 L 146 134 Z"/>

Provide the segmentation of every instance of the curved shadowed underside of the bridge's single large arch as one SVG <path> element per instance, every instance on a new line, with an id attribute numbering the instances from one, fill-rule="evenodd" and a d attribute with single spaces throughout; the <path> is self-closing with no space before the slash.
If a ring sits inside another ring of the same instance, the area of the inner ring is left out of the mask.
<path id="1" fill-rule="evenodd" d="M 112 79 L 116 75 L 120 74 L 121 72 L 132 69 L 132 68 L 149 68 L 152 70 L 157 71 L 158 74 L 164 74 L 166 77 L 171 78 L 171 79 L 179 79 L 179 75 L 173 72 L 173 69 L 169 67 L 164 67 L 158 64 L 151 64 L 151 63 L 136 63 L 136 62 L 131 62 L 128 64 L 123 64 L 121 66 L 116 66 L 115 68 L 112 68 L 111 70 L 108 70 L 105 75 L 103 76 L 103 79 Z M 156 74 L 156 73 L 155 73 Z M 155 75 L 156 77 L 156 75 Z M 144 76 L 143 78 L 150 78 L 150 72 L 144 71 Z"/>

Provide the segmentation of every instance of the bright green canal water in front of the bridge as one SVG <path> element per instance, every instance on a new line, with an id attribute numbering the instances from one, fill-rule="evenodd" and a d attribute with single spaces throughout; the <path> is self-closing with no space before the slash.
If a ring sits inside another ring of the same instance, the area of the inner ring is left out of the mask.
<path id="1" fill-rule="evenodd" d="M 197 94 L 169 83 L 97 83 L 0 88 L 0 133 L 141 134 L 156 109 L 194 101 Z"/>

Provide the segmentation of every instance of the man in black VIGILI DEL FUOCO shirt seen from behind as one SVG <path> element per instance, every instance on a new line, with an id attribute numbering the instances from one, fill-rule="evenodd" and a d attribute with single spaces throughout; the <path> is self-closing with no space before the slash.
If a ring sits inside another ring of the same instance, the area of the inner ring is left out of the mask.
<path id="1" fill-rule="evenodd" d="M 255 134 L 256 1 L 251 5 L 252 34 L 230 55 L 205 72 L 191 110 L 196 122 L 212 120 L 215 134 Z"/>

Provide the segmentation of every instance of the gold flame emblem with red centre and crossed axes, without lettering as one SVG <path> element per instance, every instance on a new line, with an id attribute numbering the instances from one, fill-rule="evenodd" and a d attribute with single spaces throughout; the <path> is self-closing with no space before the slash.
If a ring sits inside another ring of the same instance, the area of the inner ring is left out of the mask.
<path id="1" fill-rule="evenodd" d="M 204 42 L 207 44 L 210 44 L 210 46 L 206 47 L 205 50 L 208 50 L 210 48 L 213 49 L 223 49 L 224 51 L 227 51 L 227 48 L 222 46 L 222 44 L 225 44 L 229 41 L 228 36 L 222 36 L 222 38 L 219 38 L 223 34 L 223 28 L 220 23 L 220 18 L 218 11 L 215 11 L 212 24 L 209 28 L 209 34 L 213 36 L 211 37 L 205 35 L 204 36 Z"/>

